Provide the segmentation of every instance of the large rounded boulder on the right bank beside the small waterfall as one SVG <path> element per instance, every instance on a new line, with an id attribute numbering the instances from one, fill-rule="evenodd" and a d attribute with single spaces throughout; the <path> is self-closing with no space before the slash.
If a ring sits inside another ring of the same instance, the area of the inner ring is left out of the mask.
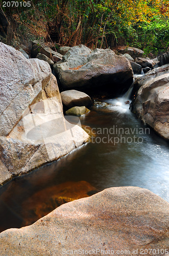
<path id="1" fill-rule="evenodd" d="M 160 136 L 169 139 L 169 65 L 156 68 L 136 80 L 132 112 Z"/>

